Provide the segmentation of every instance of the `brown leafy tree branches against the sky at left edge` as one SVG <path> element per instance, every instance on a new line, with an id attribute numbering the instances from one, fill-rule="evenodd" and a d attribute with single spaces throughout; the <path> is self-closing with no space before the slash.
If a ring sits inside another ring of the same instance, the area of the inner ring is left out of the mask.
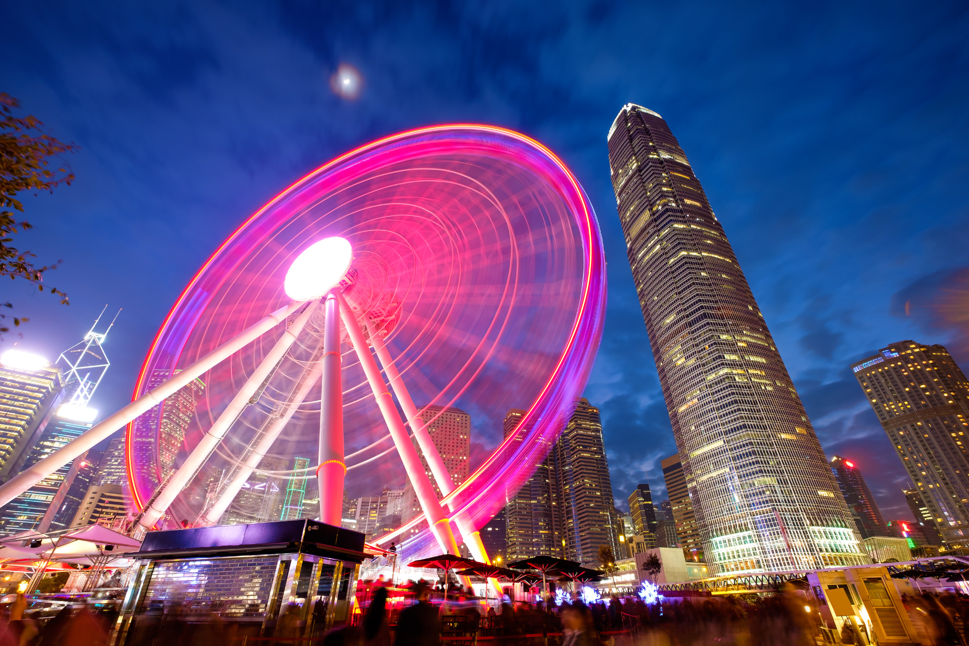
<path id="1" fill-rule="evenodd" d="M 32 229 L 30 223 L 17 222 L 14 217 L 14 211 L 23 212 L 23 203 L 16 199 L 17 194 L 21 191 L 33 191 L 34 195 L 41 191 L 50 193 L 62 183 L 70 185 L 74 173 L 66 164 L 63 168 L 56 168 L 56 164 L 51 166 L 50 158 L 74 152 L 78 146 L 62 143 L 44 133 L 41 130 L 44 124 L 35 116 L 14 116 L 13 108 L 19 107 L 20 102 L 14 97 L 0 92 L 0 276 L 26 280 L 41 292 L 48 289 L 67 305 L 66 293 L 44 285 L 44 273 L 54 269 L 60 261 L 37 266 L 31 260 L 35 258 L 33 253 L 20 251 L 10 243 L 15 233 Z M 13 304 L 4 302 L 0 306 L 13 307 Z M 26 321 L 19 317 L 12 318 L 14 325 Z M 5 319 L 7 316 L 0 314 L 0 332 L 10 331 L 3 323 Z"/>

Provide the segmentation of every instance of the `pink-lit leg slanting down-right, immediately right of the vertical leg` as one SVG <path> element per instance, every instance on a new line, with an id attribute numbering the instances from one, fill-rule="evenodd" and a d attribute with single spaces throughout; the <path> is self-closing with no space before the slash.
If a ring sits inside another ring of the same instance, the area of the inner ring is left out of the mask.
<path id="1" fill-rule="evenodd" d="M 347 301 L 342 295 L 338 297 L 340 299 L 340 314 L 343 317 L 343 324 L 350 334 L 350 340 L 353 342 L 354 349 L 357 351 L 360 365 L 363 367 L 367 380 L 370 382 L 374 399 L 377 400 L 380 412 L 384 415 L 384 421 L 391 431 L 391 438 L 393 439 L 394 446 L 397 448 L 397 453 L 400 454 L 400 460 L 404 463 L 404 469 L 407 471 L 408 476 L 411 477 L 414 492 L 417 494 L 418 501 L 421 503 L 424 516 L 427 518 L 427 524 L 430 526 L 430 531 L 434 534 L 434 538 L 437 538 L 438 545 L 444 552 L 457 555 L 459 552 L 457 541 L 454 540 L 454 535 L 451 530 L 451 521 L 444 514 L 444 509 L 441 508 L 441 503 L 434 493 L 434 488 L 431 486 L 430 480 L 423 470 L 418 451 L 411 444 L 411 440 L 407 436 L 404 421 L 397 413 L 397 407 L 393 404 L 391 393 L 387 391 L 384 378 L 380 375 L 377 361 L 374 360 L 373 354 L 370 354 L 370 349 L 363 339 L 363 331 L 360 329 L 357 317 L 350 309 L 350 306 L 347 305 Z"/>

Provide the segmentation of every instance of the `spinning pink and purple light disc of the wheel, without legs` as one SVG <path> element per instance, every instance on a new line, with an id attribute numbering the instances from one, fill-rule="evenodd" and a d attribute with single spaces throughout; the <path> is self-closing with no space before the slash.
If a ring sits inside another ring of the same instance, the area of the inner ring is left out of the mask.
<path id="1" fill-rule="evenodd" d="M 440 409 L 461 408 L 472 417 L 473 442 L 494 447 L 444 501 L 452 518 L 481 526 L 531 476 L 571 415 L 598 350 L 606 300 L 602 240 L 588 198 L 551 151 L 513 131 L 422 128 L 361 146 L 297 180 L 205 261 L 152 342 L 135 396 L 278 309 L 288 293 L 319 292 L 329 278 L 289 292 L 285 277 L 301 266 L 307 241 L 334 237 L 353 249 L 344 295 L 361 323 L 385 339 L 418 407 L 436 407 L 426 409 L 428 424 L 443 423 Z M 317 360 L 322 327 L 322 316 L 307 324 L 261 398 L 175 501 L 173 521 L 194 518 L 207 482 L 232 468 L 285 403 Z M 129 425 L 126 459 L 139 508 L 282 333 L 280 326 L 204 374 L 196 404 L 170 398 Z M 403 486 L 406 474 L 346 345 L 343 385 L 349 496 Z M 314 392 L 267 456 L 281 463 L 267 471 L 316 455 L 318 386 Z M 505 433 L 513 408 L 524 413 Z M 184 415 L 182 435 L 174 422 Z M 431 549 L 419 523 L 378 540 Z"/>

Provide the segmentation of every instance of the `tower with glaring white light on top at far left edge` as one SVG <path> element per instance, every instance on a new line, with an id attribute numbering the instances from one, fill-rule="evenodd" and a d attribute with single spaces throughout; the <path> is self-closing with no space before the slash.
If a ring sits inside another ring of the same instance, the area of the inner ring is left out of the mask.
<path id="1" fill-rule="evenodd" d="M 61 372 L 33 354 L 0 358 L 0 481 L 16 476 L 63 397 Z"/>

